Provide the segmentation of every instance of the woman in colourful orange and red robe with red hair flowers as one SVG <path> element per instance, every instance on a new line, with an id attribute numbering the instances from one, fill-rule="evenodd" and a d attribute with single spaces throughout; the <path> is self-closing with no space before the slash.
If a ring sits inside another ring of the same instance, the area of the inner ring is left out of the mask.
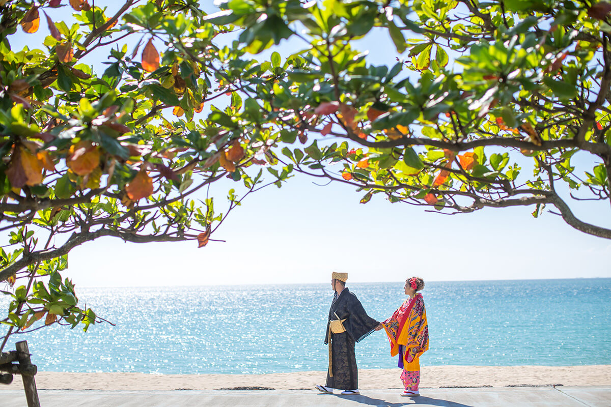
<path id="1" fill-rule="evenodd" d="M 384 328 L 390 341 L 390 356 L 399 356 L 401 381 L 405 391 L 403 396 L 420 395 L 420 355 L 428 350 L 428 326 L 422 294 L 424 281 L 412 277 L 405 281 L 405 294 L 409 299 L 392 314 L 392 317 L 380 323 L 376 330 Z"/>

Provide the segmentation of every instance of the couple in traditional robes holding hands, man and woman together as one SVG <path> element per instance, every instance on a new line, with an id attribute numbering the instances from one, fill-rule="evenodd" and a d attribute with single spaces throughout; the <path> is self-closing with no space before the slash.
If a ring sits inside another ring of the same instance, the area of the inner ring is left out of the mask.
<path id="1" fill-rule="evenodd" d="M 420 290 L 424 281 L 412 277 L 405 282 L 405 294 L 409 296 L 392 316 L 384 322 L 369 317 L 359 299 L 346 287 L 348 273 L 334 272 L 331 286 L 335 291 L 324 343 L 329 345 L 329 370 L 327 383 L 316 386 L 323 393 L 342 390 L 343 395 L 359 394 L 359 379 L 354 355 L 354 344 L 373 331 L 386 331 L 390 342 L 390 356 L 399 356 L 403 396 L 420 395 L 420 362 L 422 353 L 428 350 L 428 326 L 426 310 Z"/>

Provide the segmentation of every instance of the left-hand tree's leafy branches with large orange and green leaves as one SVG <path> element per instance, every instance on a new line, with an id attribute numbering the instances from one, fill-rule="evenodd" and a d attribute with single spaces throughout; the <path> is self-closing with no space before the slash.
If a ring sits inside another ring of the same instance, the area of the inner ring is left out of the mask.
<path id="1" fill-rule="evenodd" d="M 9 334 L 54 322 L 87 330 L 100 320 L 60 276 L 72 248 L 103 236 L 202 247 L 265 186 L 266 132 L 238 93 L 218 88 L 241 72 L 227 70 L 233 51 L 214 42 L 227 33 L 191 1 L 113 7 L 0 1 L 0 231 L 10 237 L 0 281 L 12 287 L 1 322 Z M 54 21 L 55 9 L 68 17 Z M 16 48 L 40 31 L 40 48 Z M 206 193 L 222 178 L 246 188 L 241 197 L 228 188 L 225 214 Z M 205 198 L 196 201 L 198 191 Z"/>

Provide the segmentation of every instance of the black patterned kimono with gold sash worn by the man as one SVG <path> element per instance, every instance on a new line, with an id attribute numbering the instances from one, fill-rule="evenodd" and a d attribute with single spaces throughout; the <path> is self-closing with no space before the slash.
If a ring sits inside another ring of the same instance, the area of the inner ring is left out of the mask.
<path id="1" fill-rule="evenodd" d="M 337 318 L 346 319 L 343 322 L 346 331 L 331 334 L 329 338 L 329 322 L 327 322 L 324 343 L 328 344 L 331 340 L 329 357 L 331 358 L 332 375 L 327 370 L 326 386 L 334 389 L 356 390 L 359 388 L 359 377 L 354 344 L 370 334 L 379 322 L 367 315 L 359 299 L 348 288 L 343 289 L 342 293 L 337 298 L 334 297 L 331 303 L 329 321 Z"/>

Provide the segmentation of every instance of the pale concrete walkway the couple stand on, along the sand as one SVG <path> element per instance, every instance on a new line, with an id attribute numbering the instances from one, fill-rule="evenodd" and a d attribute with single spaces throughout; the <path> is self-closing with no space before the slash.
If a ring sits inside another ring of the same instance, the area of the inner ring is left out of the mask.
<path id="1" fill-rule="evenodd" d="M 610 407 L 611 386 L 486 387 L 422 389 L 420 397 L 401 397 L 398 389 L 364 390 L 358 396 L 305 390 L 274 391 L 38 391 L 42 407 L 166 406 L 384 406 L 446 407 Z M 23 392 L 0 390 L 0 407 L 26 407 Z"/>

